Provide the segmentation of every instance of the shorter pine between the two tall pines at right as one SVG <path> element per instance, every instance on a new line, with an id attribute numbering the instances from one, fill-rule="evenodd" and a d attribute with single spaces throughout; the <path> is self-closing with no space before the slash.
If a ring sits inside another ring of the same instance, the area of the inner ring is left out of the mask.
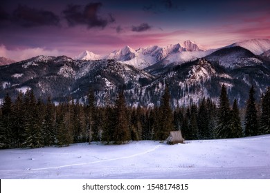
<path id="1" fill-rule="evenodd" d="M 238 138 L 242 136 L 242 126 L 240 119 L 240 112 L 238 109 L 236 99 L 233 101 L 233 110 L 232 110 L 232 119 L 231 119 L 231 134 L 230 138 Z"/>

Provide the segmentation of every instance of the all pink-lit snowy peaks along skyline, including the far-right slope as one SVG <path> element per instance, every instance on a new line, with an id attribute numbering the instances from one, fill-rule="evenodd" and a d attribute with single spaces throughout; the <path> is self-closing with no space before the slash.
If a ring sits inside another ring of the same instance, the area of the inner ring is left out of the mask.
<path id="1" fill-rule="evenodd" d="M 247 41 L 233 43 L 224 48 L 231 48 L 240 46 L 250 50 L 255 55 L 260 55 L 263 52 L 270 49 L 269 39 L 251 39 Z M 116 61 L 123 61 L 129 65 L 134 65 L 136 68 L 144 69 L 150 67 L 155 63 L 160 65 L 168 65 L 170 63 L 185 63 L 187 61 L 194 61 L 201 57 L 206 57 L 219 49 L 206 49 L 203 46 L 187 40 L 183 43 L 177 43 L 175 45 L 168 45 L 164 48 L 158 45 L 150 45 L 147 48 L 139 48 L 134 50 L 128 45 L 120 50 L 115 50 L 110 54 L 102 57 L 93 52 L 84 51 L 73 59 L 76 60 L 99 60 L 99 59 L 115 59 Z M 235 56 L 237 57 L 237 56 Z"/>

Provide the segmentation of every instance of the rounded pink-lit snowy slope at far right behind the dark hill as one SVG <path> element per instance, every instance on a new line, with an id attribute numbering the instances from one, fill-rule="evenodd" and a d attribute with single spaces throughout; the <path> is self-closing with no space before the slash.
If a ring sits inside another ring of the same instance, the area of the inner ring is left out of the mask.
<path id="1" fill-rule="evenodd" d="M 255 55 L 260 55 L 263 52 L 270 49 L 270 40 L 269 39 L 251 39 L 246 41 L 241 41 L 228 45 L 228 47 L 241 46 L 247 50 L 253 52 Z"/>

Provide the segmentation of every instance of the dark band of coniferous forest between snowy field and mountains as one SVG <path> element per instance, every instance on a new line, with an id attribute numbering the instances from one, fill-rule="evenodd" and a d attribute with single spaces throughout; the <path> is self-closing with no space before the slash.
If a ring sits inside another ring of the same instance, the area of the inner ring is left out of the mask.
<path id="1" fill-rule="evenodd" d="M 255 101 L 254 93 L 251 87 L 244 109 L 238 108 L 237 99 L 229 101 L 225 85 L 219 103 L 204 98 L 198 105 L 173 109 L 168 86 L 161 105 L 153 108 L 128 107 L 123 90 L 118 92 L 114 105 L 105 107 L 96 106 L 91 90 L 84 105 L 73 99 L 55 105 L 49 96 L 46 101 L 37 99 L 33 90 L 20 92 L 12 101 L 7 93 L 0 110 L 0 148 L 163 141 L 171 130 L 181 130 L 186 140 L 270 134 L 270 88 L 260 101 Z"/>

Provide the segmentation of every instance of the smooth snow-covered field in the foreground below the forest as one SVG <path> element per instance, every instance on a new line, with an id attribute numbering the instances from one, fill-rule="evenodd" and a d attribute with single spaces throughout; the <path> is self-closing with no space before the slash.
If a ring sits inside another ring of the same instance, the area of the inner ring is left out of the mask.
<path id="1" fill-rule="evenodd" d="M 0 150 L 0 179 L 270 179 L 270 135 Z"/>

